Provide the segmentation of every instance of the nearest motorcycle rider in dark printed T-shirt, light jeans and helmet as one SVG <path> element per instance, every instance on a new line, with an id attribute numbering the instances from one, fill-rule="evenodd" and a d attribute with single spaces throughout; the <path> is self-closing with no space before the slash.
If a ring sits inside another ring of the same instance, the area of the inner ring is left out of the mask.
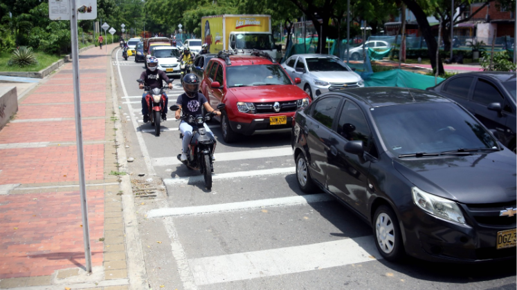
<path id="1" fill-rule="evenodd" d="M 185 93 L 179 95 L 178 99 L 176 100 L 176 105 L 179 106 L 180 110 L 183 109 L 183 114 L 185 115 L 188 113 L 189 115 L 202 115 L 203 108 L 205 108 L 206 112 L 212 113 L 214 112 L 215 115 L 220 116 L 221 112 L 214 110 L 210 104 L 208 104 L 208 101 L 206 97 L 199 93 L 199 84 L 201 84 L 201 81 L 197 77 L 197 75 L 194 75 L 193 73 L 189 73 L 183 77 L 183 90 L 185 90 Z M 176 119 L 180 119 L 180 110 L 176 110 Z M 206 133 L 209 133 L 212 138 L 214 137 L 214 134 L 212 131 L 210 131 L 210 128 L 204 124 L 204 127 L 206 129 Z M 181 120 L 181 123 L 179 124 L 179 130 L 183 134 L 183 140 L 182 140 L 182 150 L 181 150 L 181 161 L 187 160 L 187 151 L 188 151 L 188 144 L 190 144 L 190 139 L 192 139 L 192 126 L 190 126 L 185 120 Z M 215 157 L 212 156 L 212 160 L 215 160 Z"/>

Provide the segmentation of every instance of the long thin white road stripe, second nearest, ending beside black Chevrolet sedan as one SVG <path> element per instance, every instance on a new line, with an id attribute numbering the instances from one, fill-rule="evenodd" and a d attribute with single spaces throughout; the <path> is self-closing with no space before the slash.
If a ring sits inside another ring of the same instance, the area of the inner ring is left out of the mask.
<path id="1" fill-rule="evenodd" d="M 328 202 L 334 197 L 327 193 L 311 195 L 298 195 L 289 197 L 269 198 L 266 200 L 250 200 L 247 202 L 232 202 L 228 204 L 210 204 L 206 206 L 188 206 L 165 209 L 152 209 L 147 213 L 147 218 L 161 218 L 181 215 L 204 215 L 208 213 L 226 213 L 228 211 L 246 211 L 249 209 L 262 209 L 273 206 L 304 205 L 314 202 Z"/>

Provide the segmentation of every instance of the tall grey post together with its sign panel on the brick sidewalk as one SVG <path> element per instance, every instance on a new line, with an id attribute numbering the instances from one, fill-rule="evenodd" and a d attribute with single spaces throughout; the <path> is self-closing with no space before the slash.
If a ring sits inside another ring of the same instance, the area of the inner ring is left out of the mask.
<path id="1" fill-rule="evenodd" d="M 88 225 L 88 204 L 86 180 L 84 178 L 84 149 L 82 146 L 81 91 L 79 82 L 79 36 L 78 19 L 97 18 L 96 0 L 49 0 L 48 17 L 51 20 L 70 20 L 72 45 L 73 104 L 75 111 L 75 138 L 78 147 L 78 173 L 81 198 L 82 238 L 87 273 L 91 273 L 90 233 Z"/>

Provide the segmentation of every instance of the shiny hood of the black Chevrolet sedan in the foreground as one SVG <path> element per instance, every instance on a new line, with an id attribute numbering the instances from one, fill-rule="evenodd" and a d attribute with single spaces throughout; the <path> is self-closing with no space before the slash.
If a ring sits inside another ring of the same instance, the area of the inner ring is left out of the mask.
<path id="1" fill-rule="evenodd" d="M 463 204 L 517 200 L 517 155 L 503 151 L 451 157 L 394 160 L 419 189 Z"/>

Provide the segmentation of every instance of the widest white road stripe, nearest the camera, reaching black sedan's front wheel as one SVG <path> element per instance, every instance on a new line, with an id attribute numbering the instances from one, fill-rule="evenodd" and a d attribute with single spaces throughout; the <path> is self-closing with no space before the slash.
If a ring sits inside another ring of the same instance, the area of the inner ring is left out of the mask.
<path id="1" fill-rule="evenodd" d="M 248 280 L 381 259 L 371 235 L 304 246 L 190 259 L 196 284 Z"/>

